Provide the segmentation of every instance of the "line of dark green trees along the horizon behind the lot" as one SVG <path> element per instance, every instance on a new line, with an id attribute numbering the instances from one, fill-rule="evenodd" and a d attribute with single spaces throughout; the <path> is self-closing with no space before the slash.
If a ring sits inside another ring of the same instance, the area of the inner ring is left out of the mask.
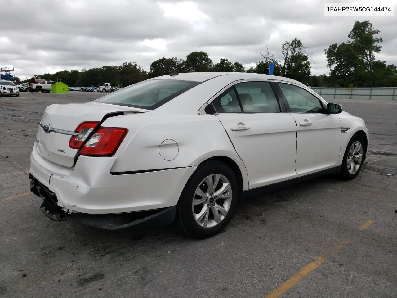
<path id="1" fill-rule="evenodd" d="M 112 86 L 125 87 L 148 78 L 173 72 L 250 72 L 268 74 L 270 63 L 275 64 L 274 75 L 289 77 L 311 87 L 397 87 L 397 67 L 375 59 L 383 42 L 380 31 L 369 21 L 356 21 L 348 34 L 348 40 L 332 44 L 324 50 L 330 74 L 312 75 L 312 54 L 299 39 L 285 41 L 281 46 L 281 59 L 276 59 L 266 48 L 258 52 L 258 62 L 245 69 L 240 62 L 221 58 L 214 63 L 203 51 L 191 52 L 185 59 L 160 58 L 150 64 L 150 71 L 136 62 L 124 62 L 121 66 L 64 70 L 55 74 L 36 75 L 46 80 L 62 80 L 69 86 L 99 86 L 110 82 Z M 32 81 L 31 79 L 25 81 Z M 22 82 L 25 82 L 22 81 Z"/>

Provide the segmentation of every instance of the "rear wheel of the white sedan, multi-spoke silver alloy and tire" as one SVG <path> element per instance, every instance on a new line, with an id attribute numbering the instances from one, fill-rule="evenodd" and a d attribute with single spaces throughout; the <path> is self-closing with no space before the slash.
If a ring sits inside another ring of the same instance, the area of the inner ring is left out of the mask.
<path id="1" fill-rule="evenodd" d="M 177 204 L 181 228 L 194 238 L 221 232 L 237 207 L 239 185 L 233 171 L 219 161 L 208 161 L 193 173 Z"/>

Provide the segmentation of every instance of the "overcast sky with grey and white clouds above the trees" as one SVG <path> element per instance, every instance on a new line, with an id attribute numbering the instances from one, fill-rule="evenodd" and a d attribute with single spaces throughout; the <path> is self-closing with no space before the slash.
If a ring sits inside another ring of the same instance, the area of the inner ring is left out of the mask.
<path id="1" fill-rule="evenodd" d="M 376 56 L 397 65 L 397 17 L 324 16 L 325 2 L 351 0 L 0 0 L 0 66 L 15 76 L 137 62 L 149 70 L 161 57 L 203 50 L 248 67 L 256 52 L 281 58 L 281 45 L 301 39 L 312 74 L 328 74 L 324 49 L 341 43 L 356 20 L 381 31 Z M 361 1 L 362 2 L 362 1 Z M 395 6 L 397 0 L 370 1 Z M 11 10 L 10 10 L 11 12 Z M 395 14 L 397 15 L 397 14 Z"/>

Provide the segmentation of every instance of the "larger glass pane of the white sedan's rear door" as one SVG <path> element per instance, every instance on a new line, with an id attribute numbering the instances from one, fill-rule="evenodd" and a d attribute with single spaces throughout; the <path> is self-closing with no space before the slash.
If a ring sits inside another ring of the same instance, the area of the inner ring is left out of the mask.
<path id="1" fill-rule="evenodd" d="M 244 113 L 281 112 L 269 82 L 243 82 L 235 85 Z"/>

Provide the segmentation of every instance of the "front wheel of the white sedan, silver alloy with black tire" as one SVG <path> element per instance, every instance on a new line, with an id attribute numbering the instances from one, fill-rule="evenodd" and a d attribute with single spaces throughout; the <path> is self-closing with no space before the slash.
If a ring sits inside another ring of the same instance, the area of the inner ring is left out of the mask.
<path id="1" fill-rule="evenodd" d="M 339 178 L 342 180 L 351 180 L 355 178 L 364 163 L 364 154 L 366 153 L 366 143 L 361 135 L 355 134 L 347 144 Z"/>

